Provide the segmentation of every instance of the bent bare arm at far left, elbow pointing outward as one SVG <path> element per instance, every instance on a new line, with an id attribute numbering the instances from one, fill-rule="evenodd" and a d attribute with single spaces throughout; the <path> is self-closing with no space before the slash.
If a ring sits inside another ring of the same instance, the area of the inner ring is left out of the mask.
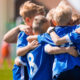
<path id="1" fill-rule="evenodd" d="M 30 27 L 26 25 L 18 25 L 17 27 L 11 29 L 8 31 L 4 37 L 3 40 L 8 43 L 17 43 L 17 37 L 20 31 L 24 31 L 27 35 L 30 34 Z"/>

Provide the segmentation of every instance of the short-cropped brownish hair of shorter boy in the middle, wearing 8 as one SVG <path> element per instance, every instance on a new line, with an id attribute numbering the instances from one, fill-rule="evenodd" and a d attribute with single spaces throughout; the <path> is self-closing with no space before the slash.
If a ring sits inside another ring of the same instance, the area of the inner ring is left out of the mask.
<path id="1" fill-rule="evenodd" d="M 48 20 L 46 19 L 45 16 L 38 15 L 34 18 L 33 20 L 33 30 L 34 32 L 39 32 L 40 34 L 45 33 L 49 27 L 49 25 L 44 26 Z"/>

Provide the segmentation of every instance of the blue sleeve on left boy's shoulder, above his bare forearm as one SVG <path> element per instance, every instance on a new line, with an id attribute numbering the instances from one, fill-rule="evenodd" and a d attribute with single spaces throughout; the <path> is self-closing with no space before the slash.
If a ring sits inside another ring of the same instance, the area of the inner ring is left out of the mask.
<path id="1" fill-rule="evenodd" d="M 26 38 L 28 36 L 24 32 L 20 32 L 17 40 L 17 48 L 24 47 L 28 44 Z"/>

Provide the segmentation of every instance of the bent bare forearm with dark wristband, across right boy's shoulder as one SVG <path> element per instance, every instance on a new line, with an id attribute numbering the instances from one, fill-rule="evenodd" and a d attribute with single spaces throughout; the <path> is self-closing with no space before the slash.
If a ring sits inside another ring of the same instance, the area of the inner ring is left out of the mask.
<path id="1" fill-rule="evenodd" d="M 55 43 L 56 45 L 62 45 L 62 44 L 64 44 L 64 43 L 67 43 L 67 42 L 68 42 L 68 41 L 66 40 L 66 36 L 60 38 L 60 37 L 55 33 L 55 31 L 54 31 L 53 28 L 49 29 L 49 30 L 47 31 L 47 33 L 50 34 L 52 40 L 54 41 L 54 43 Z"/>

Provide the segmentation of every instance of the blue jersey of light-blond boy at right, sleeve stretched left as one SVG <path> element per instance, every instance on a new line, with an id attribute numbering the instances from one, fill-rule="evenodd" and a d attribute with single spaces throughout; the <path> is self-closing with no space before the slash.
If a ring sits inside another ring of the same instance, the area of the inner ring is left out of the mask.
<path id="1" fill-rule="evenodd" d="M 66 34 L 72 32 L 75 30 L 78 26 L 65 26 L 65 27 L 56 27 L 55 32 L 58 36 L 63 37 Z M 47 34 L 48 35 L 48 34 Z M 49 37 L 46 37 L 46 34 L 44 36 L 42 35 L 42 38 L 38 36 L 39 42 L 45 42 L 46 44 L 53 44 L 52 41 L 49 39 Z M 41 40 L 40 40 L 41 39 Z M 69 46 L 75 46 L 73 43 L 66 43 L 64 45 L 61 45 L 60 47 L 69 47 Z M 73 57 L 67 53 L 64 54 L 58 54 L 54 56 L 54 63 L 53 63 L 53 76 L 59 75 L 61 72 L 70 70 L 74 68 L 75 66 L 80 66 L 80 58 L 79 57 Z"/>

